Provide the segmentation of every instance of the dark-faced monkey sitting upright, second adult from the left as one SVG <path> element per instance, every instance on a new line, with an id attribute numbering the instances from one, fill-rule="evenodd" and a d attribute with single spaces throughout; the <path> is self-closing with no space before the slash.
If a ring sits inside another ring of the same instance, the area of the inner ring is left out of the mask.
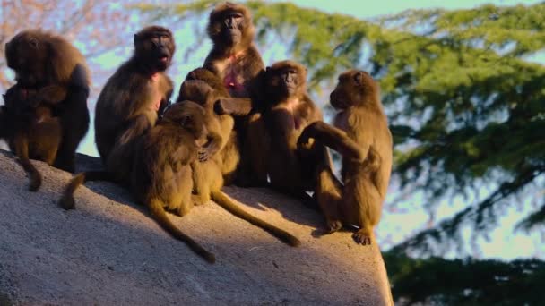
<path id="1" fill-rule="evenodd" d="M 126 182 L 131 177 L 134 140 L 155 125 L 169 103 L 172 81 L 165 70 L 175 50 L 170 30 L 144 28 L 134 35 L 134 55 L 100 92 L 95 140 L 102 162 L 117 181 Z"/>

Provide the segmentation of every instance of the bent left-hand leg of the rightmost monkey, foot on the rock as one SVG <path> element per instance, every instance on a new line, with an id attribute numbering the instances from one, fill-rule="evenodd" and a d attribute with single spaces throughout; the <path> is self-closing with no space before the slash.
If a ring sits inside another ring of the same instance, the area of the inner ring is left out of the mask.
<path id="1" fill-rule="evenodd" d="M 342 183 L 333 175 L 331 168 L 324 166 L 317 170 L 314 197 L 322 209 L 328 232 L 340 230 L 342 222 L 339 206 L 342 203 Z"/>

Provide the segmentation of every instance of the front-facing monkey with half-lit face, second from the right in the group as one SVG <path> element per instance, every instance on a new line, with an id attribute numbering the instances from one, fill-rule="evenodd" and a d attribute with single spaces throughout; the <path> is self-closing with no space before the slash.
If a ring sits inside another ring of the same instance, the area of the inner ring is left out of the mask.
<path id="1" fill-rule="evenodd" d="M 270 147 L 265 149 L 272 188 L 307 200 L 306 191 L 315 191 L 316 172 L 329 168 L 324 146 L 311 143 L 298 148 L 298 137 L 308 124 L 322 120 L 322 113 L 307 94 L 307 71 L 292 61 L 273 64 L 265 72 L 268 97 L 265 133 Z M 263 132 L 261 132 L 263 133 Z"/>

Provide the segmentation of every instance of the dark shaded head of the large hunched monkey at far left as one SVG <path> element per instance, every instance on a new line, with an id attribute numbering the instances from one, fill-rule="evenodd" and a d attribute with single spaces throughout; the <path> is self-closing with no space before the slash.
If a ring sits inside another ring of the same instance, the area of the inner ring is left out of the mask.
<path id="1" fill-rule="evenodd" d="M 7 66 L 22 86 L 32 87 L 45 80 L 48 48 L 39 38 L 22 31 L 5 44 Z"/>

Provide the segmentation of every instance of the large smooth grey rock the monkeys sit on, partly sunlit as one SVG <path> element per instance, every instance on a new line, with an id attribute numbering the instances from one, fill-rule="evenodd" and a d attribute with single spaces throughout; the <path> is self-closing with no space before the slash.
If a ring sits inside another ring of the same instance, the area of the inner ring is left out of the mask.
<path id="1" fill-rule="evenodd" d="M 38 192 L 0 151 L 0 305 L 392 303 L 376 244 L 356 245 L 347 232 L 320 236 L 316 211 L 279 193 L 225 188 L 243 208 L 298 236 L 298 248 L 212 202 L 169 216 L 215 253 L 212 265 L 112 183 L 87 183 L 75 210 L 59 208 L 71 174 L 33 163 L 44 177 Z M 78 171 L 99 167 L 99 158 L 78 157 Z"/>

